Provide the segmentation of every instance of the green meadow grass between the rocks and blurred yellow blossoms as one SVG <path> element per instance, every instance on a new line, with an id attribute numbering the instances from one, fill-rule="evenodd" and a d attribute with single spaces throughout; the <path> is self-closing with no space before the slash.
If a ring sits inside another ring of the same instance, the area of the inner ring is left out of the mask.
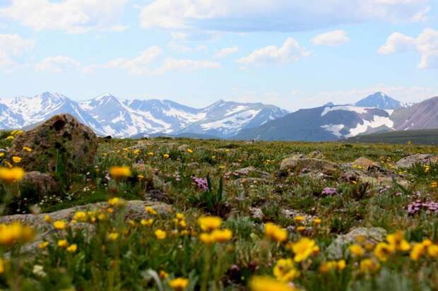
<path id="1" fill-rule="evenodd" d="M 183 144 L 193 153 L 178 150 Z M 315 150 L 345 169 L 365 156 L 379 162 L 385 171 L 402 174 L 410 186 L 404 189 L 390 184 L 385 188 L 354 184 L 338 176 L 312 179 L 280 172 L 284 158 Z M 0 244 L 0 259 L 6 259 L 6 253 L 12 254 L 6 272 L 0 274 L 0 289 L 160 290 L 160 281 L 162 290 L 170 290 L 169 280 L 183 277 L 190 282 L 187 290 L 202 290 L 205 286 L 206 290 L 247 290 L 252 276 L 272 276 L 279 259 L 293 257 L 286 244 L 268 242 L 264 237 L 264 223 L 273 222 L 288 230 L 287 242 L 310 237 L 319 246 L 318 255 L 295 263 L 301 275 L 293 281 L 302 290 L 436 290 L 437 259 L 426 254 L 413 261 L 408 252 L 397 252 L 388 261 L 381 261 L 381 269 L 374 275 L 362 273 L 360 259 L 348 254 L 343 258 L 343 271 L 319 271 L 321 264 L 329 261 L 327 247 L 338 234 L 354 227 L 403 230 L 412 243 L 426 238 L 437 242 L 438 215 L 425 211 L 409 215 L 407 207 L 418 199 L 438 201 L 438 191 L 432 187 L 432 182 L 438 181 L 438 165 L 417 165 L 400 173 L 394 168 L 398 159 L 415 153 L 438 155 L 438 148 L 406 143 L 246 143 L 188 138 L 102 142 L 88 174 L 73 175 L 59 193 L 44 196 L 44 201 L 37 203 L 40 211 L 107 201 L 112 196 L 138 200 L 146 192 L 157 194 L 160 201 L 170 201 L 174 211 L 147 215 L 154 222 L 146 226 L 141 221 L 125 221 L 123 207 L 100 209 L 88 215 L 85 224 L 90 227 L 72 224 L 66 230 L 51 232 L 46 237 L 50 241 L 47 249 L 37 249 L 33 254 L 20 254 L 20 244 Z M 165 159 L 165 154 L 170 158 Z M 144 162 L 144 166 L 138 166 L 138 162 Z M 132 177 L 116 183 L 107 180 L 107 170 L 114 165 L 136 166 Z M 267 172 L 269 178 L 263 183 L 237 184 L 242 177 L 233 172 L 249 166 Z M 59 177 L 64 177 L 62 174 Z M 192 177 L 209 179 L 209 190 L 202 192 L 192 183 Z M 322 194 L 326 187 L 335 188 L 336 194 Z M 35 194 L 24 185 L 21 190 L 29 198 Z M 6 195 L 8 189 L 2 186 L 1 191 Z M 33 209 L 31 206 L 27 211 Z M 260 210 L 261 217 L 253 215 L 254 208 Z M 187 226 L 175 225 L 177 212 L 184 214 Z M 288 213 L 306 215 L 307 220 L 296 222 Z M 106 219 L 97 218 L 100 215 Z M 197 223 L 202 215 L 220 216 L 222 228 L 232 230 L 232 239 L 211 246 L 203 244 Z M 314 225 L 314 218 L 321 218 L 321 225 Z M 300 226 L 305 226 L 302 232 Z M 165 239 L 155 237 L 158 229 L 166 232 Z M 187 231 L 184 235 L 183 230 Z M 109 233 L 119 237 L 113 242 L 108 239 Z M 69 253 L 57 246 L 59 239 L 67 239 L 78 249 Z M 370 251 L 366 256 L 374 257 Z M 35 273 L 35 266 L 41 266 L 45 275 Z M 154 277 L 154 272 L 160 271 L 170 277 Z"/>

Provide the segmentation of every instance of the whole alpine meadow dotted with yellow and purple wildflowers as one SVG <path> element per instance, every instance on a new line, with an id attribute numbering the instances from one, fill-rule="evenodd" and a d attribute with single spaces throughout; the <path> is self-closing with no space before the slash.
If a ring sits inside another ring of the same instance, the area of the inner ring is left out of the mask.
<path id="1" fill-rule="evenodd" d="M 438 290 L 438 164 L 395 165 L 436 147 L 101 139 L 93 165 L 57 168 L 62 191 L 45 195 L 8 157 L 18 134 L 0 144 L 0 290 Z M 293 157 L 339 170 L 280 168 Z M 170 210 L 137 219 L 134 200 Z"/>

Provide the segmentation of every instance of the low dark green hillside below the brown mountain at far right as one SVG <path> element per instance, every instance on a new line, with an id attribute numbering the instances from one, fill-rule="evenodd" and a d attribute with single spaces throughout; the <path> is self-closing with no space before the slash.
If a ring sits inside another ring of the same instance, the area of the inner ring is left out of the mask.
<path id="1" fill-rule="evenodd" d="M 410 141 L 416 145 L 438 145 L 438 129 L 364 134 L 348 138 L 345 141 L 352 143 L 408 143 Z"/>

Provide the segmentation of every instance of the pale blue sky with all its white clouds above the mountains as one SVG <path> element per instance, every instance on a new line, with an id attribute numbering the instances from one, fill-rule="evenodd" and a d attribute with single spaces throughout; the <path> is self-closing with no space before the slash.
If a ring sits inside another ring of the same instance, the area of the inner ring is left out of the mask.
<path id="1" fill-rule="evenodd" d="M 0 0 L 0 97 L 285 109 L 438 95 L 436 0 Z"/>

